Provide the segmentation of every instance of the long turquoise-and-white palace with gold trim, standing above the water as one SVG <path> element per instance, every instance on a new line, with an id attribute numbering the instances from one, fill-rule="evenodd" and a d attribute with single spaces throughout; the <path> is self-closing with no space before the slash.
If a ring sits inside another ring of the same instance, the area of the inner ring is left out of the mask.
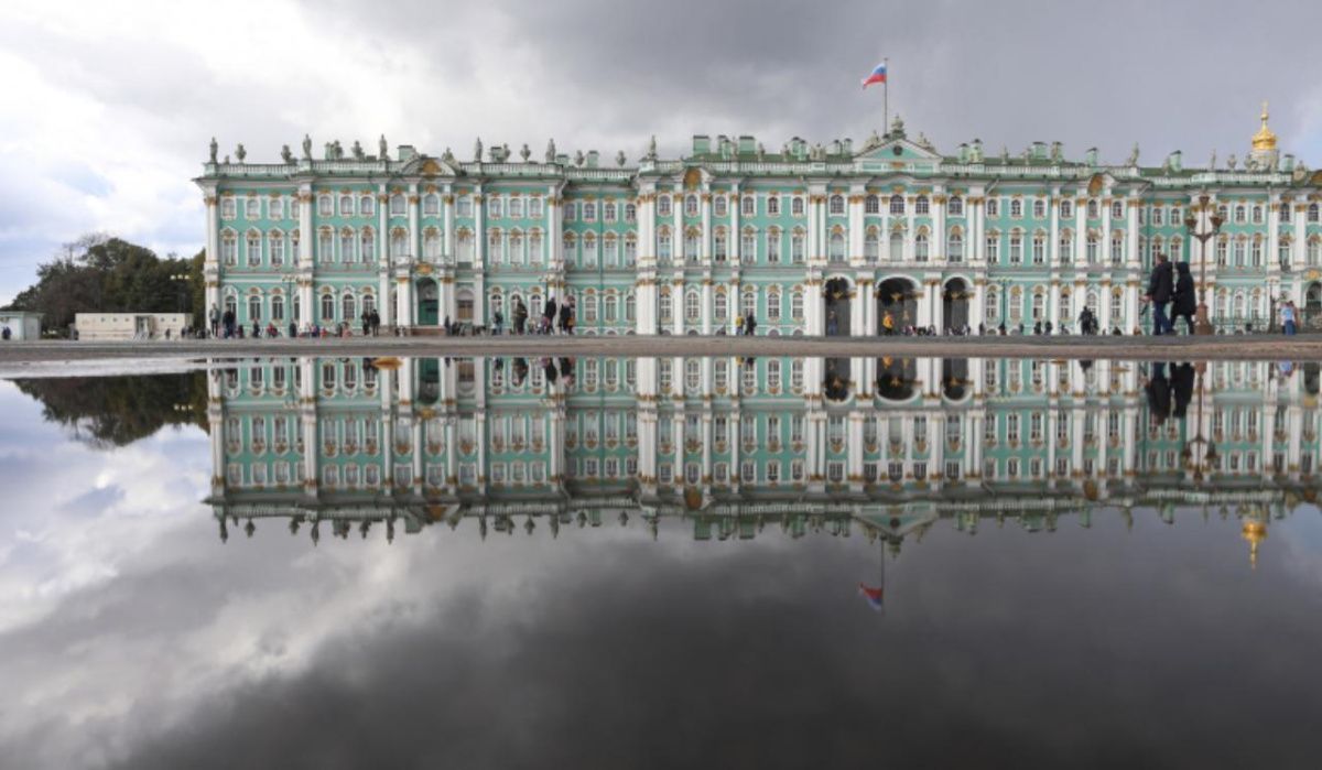
<path id="1" fill-rule="evenodd" d="M 241 324 L 386 327 L 424 333 L 447 318 L 490 325 L 521 300 L 533 318 L 572 295 L 584 333 L 715 333 L 752 315 L 768 335 L 874 335 L 894 324 L 1103 329 L 1140 325 L 1155 251 L 1188 261 L 1206 241 L 1214 323 L 1264 328 L 1293 299 L 1322 320 L 1322 173 L 1277 148 L 1264 106 L 1243 161 L 1204 168 L 1173 152 L 1120 165 L 1060 143 L 988 155 L 939 152 L 896 118 L 884 135 L 694 136 L 686 157 L 571 159 L 551 143 L 471 160 L 385 138 L 377 155 L 338 142 L 280 163 L 212 159 L 206 302 Z M 1206 196 L 1206 197 L 1204 197 Z M 1202 208 L 1200 208 L 1202 205 Z"/>

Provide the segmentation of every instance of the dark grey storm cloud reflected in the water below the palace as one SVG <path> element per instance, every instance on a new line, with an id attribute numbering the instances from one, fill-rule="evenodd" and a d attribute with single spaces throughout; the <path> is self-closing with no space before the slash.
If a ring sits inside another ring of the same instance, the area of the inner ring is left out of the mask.
<path id="1" fill-rule="evenodd" d="M 120 766 L 1303 766 L 1319 602 L 1191 519 L 941 532 L 892 565 L 887 617 L 859 540 L 522 541 L 551 558 L 518 593 L 438 586 L 438 620 L 212 692 Z"/>

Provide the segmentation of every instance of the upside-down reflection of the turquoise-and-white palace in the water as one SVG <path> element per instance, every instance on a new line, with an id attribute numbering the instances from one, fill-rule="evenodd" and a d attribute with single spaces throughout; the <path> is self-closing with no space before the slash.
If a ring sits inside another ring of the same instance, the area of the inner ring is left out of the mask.
<path id="1" fill-rule="evenodd" d="M 251 531 L 475 517 L 694 521 L 698 538 L 939 519 L 1052 529 L 1097 507 L 1245 520 L 1313 500 L 1317 365 L 941 359 L 361 359 L 209 376 L 212 499 Z M 863 376 L 850 380 L 851 372 Z M 1155 410 L 1155 411 L 1154 411 Z M 1169 414 L 1158 421 L 1154 413 Z M 518 524 L 518 523 L 522 524 Z"/>

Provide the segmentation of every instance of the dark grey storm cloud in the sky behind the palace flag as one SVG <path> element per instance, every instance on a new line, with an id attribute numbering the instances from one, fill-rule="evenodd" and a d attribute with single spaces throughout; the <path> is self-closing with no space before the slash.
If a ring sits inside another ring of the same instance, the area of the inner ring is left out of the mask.
<path id="1" fill-rule="evenodd" d="M 768 148 L 789 132 L 866 136 L 880 94 L 858 82 L 887 56 L 892 114 L 948 152 L 974 136 L 1011 152 L 1060 139 L 1072 156 L 1099 146 L 1118 161 L 1138 142 L 1154 164 L 1173 150 L 1203 163 L 1214 147 L 1243 155 L 1261 99 L 1276 103 L 1286 151 L 1301 146 L 1322 64 L 1322 7 L 1306 1 L 497 1 L 481 19 L 452 4 L 391 8 L 340 3 L 329 16 L 436 56 L 438 30 L 534 50 L 541 69 L 524 75 L 545 98 L 527 107 L 558 106 L 547 128 L 562 139 L 640 146 L 657 132 L 674 150 L 687 136 L 666 130 L 756 132 Z"/>

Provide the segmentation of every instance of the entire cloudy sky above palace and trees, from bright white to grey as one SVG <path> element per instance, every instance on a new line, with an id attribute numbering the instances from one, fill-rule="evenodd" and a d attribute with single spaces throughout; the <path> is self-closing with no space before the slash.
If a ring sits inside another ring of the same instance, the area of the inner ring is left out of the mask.
<path id="1" fill-rule="evenodd" d="M 648 135 L 866 136 L 891 108 L 939 148 L 1062 140 L 1120 160 L 1243 155 L 1270 99 L 1282 148 L 1322 165 L 1322 4 L 846 0 L 5 0 L 0 303 L 89 230 L 204 242 L 214 135 L 253 160 L 316 147 L 527 142 L 637 156 Z"/>

